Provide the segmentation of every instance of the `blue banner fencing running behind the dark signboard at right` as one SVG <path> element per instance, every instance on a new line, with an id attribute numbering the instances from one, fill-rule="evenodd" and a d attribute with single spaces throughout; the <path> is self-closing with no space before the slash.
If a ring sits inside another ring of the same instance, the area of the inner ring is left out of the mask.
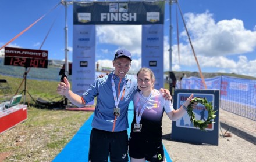
<path id="1" fill-rule="evenodd" d="M 256 81 L 230 76 L 216 76 L 205 78 L 207 89 L 220 90 L 221 100 L 237 102 L 239 104 L 256 106 Z M 177 83 L 177 88 L 181 89 L 204 89 L 201 78 L 183 78 L 182 82 Z M 240 94 L 240 95 L 237 95 Z"/>

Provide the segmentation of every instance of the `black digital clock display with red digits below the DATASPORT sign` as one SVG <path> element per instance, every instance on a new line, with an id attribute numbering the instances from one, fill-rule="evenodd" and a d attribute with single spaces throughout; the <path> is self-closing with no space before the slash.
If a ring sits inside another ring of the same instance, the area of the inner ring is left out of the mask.
<path id="1" fill-rule="evenodd" d="M 5 65 L 47 68 L 48 60 L 26 57 L 5 57 Z"/>

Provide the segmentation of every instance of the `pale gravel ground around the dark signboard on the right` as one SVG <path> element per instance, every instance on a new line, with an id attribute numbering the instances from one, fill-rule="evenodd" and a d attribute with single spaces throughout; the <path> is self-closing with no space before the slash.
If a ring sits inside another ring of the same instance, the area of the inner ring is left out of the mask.
<path id="1" fill-rule="evenodd" d="M 246 135 L 243 138 L 237 136 L 236 131 L 232 131 L 237 128 L 242 132 L 246 132 L 256 139 L 256 121 L 234 115 L 233 113 L 219 110 L 219 120 L 221 123 L 225 123 L 230 126 L 229 131 L 231 137 L 221 137 L 221 131 L 219 131 L 219 145 L 194 145 L 191 143 L 183 143 L 172 141 L 170 134 L 172 131 L 172 121 L 168 116 L 163 116 L 163 145 L 168 150 L 169 156 L 173 162 L 183 161 L 256 161 L 256 145 L 255 142 L 247 141 Z M 165 124 L 168 123 L 168 124 Z M 226 130 L 222 128 L 222 132 Z M 168 138 L 169 137 L 169 138 Z"/>

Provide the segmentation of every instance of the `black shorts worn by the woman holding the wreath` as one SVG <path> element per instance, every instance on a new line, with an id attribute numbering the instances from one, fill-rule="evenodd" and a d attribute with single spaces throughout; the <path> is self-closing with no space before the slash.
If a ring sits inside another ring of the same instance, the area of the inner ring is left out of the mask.
<path id="1" fill-rule="evenodd" d="M 147 141 L 143 138 L 130 137 L 129 139 L 129 156 L 147 161 L 163 161 L 164 150 L 161 140 L 158 142 Z"/>

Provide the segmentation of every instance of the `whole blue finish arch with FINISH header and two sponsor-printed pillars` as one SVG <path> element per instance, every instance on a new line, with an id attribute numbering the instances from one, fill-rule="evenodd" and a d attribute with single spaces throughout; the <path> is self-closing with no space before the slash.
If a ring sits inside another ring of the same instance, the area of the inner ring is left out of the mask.
<path id="1" fill-rule="evenodd" d="M 165 1 L 73 2 L 72 91 L 83 94 L 95 79 L 95 25 L 141 25 L 141 67 L 152 69 L 163 87 Z M 129 49 L 127 49 L 129 50 Z"/>

